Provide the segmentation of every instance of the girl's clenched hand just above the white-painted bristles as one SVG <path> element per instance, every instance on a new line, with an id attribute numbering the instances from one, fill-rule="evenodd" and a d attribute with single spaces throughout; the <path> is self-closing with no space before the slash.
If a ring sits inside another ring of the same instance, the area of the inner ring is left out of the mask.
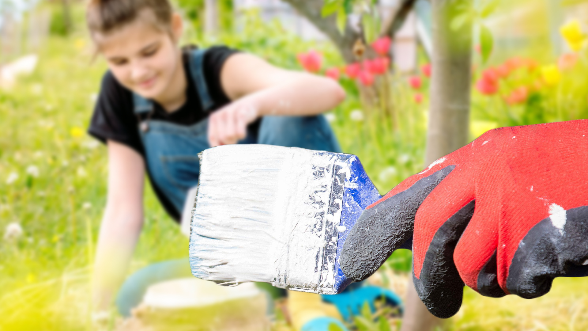
<path id="1" fill-rule="evenodd" d="M 208 143 L 211 147 L 237 143 L 247 135 L 247 125 L 258 117 L 259 107 L 250 98 L 220 108 L 208 118 Z"/>

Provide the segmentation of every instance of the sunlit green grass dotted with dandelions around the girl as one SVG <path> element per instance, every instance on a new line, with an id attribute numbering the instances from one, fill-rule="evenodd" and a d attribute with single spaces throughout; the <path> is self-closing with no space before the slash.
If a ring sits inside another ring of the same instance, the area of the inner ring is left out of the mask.
<path id="1" fill-rule="evenodd" d="M 329 65 L 340 65 L 329 45 L 303 42 L 275 27 L 252 25 L 251 29 L 217 42 L 290 68 L 298 67 L 296 52 L 312 47 L 325 53 Z M 51 37 L 39 57 L 34 74 L 12 90 L 0 91 L 0 231 L 12 222 L 24 229 L 18 240 L 0 238 L 0 331 L 88 330 L 89 276 L 105 204 L 107 160 L 105 147 L 80 130 L 88 126 L 105 64 L 91 61 L 92 47 L 83 34 Z M 363 106 L 349 81 L 343 81 L 348 100 L 332 111 L 343 150 L 359 155 L 381 193 L 424 166 L 426 97 L 423 104 L 416 104 L 404 78 L 393 78 L 389 90 L 393 112 Z M 586 114 L 587 100 L 578 96 L 586 84 L 580 78 L 574 84 L 571 94 L 560 88 L 543 93 L 540 102 L 513 107 L 500 97 L 474 92 L 472 118 L 493 125 L 579 118 Z M 556 111 L 537 118 L 541 108 L 533 107 L 549 108 L 553 102 Z M 363 120 L 352 119 L 357 110 Z M 38 168 L 38 177 L 27 174 L 30 166 Z M 18 179 L 8 184 L 11 173 Z M 145 201 L 145 225 L 129 272 L 188 254 L 188 240 L 149 188 Z M 407 270 L 409 258 L 409 252 L 399 251 L 387 267 Z M 483 298 L 466 289 L 463 309 L 446 327 L 585 330 L 587 292 L 588 279 L 558 279 L 552 292 L 537 300 Z"/>

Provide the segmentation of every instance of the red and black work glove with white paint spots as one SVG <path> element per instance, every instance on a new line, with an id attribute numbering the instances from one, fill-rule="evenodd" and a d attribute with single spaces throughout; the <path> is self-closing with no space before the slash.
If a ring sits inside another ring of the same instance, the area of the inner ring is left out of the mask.
<path id="1" fill-rule="evenodd" d="M 343 273 L 365 279 L 411 236 L 415 287 L 438 317 L 457 313 L 464 283 L 533 298 L 583 274 L 588 120 L 488 131 L 407 178 L 363 211 Z"/>

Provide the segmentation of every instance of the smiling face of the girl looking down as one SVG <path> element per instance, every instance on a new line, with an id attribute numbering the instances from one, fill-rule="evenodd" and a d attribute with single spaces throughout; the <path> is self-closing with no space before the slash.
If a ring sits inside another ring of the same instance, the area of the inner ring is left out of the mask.
<path id="1" fill-rule="evenodd" d="M 141 16 L 107 35 L 95 34 L 94 40 L 116 80 L 144 98 L 158 100 L 175 85 L 172 81 L 181 70 L 180 50 L 176 47 L 181 18 L 173 16 L 169 33 Z"/>

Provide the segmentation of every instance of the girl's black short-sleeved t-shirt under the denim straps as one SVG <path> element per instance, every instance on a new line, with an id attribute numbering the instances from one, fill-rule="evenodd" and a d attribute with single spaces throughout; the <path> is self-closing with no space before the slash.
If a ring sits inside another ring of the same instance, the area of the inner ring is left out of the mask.
<path id="1" fill-rule="evenodd" d="M 218 109 L 230 102 L 225 91 L 222 89 L 220 71 L 226 59 L 230 55 L 235 54 L 235 52 L 238 51 L 225 46 L 216 46 L 208 48 L 204 55 L 203 71 L 206 84 L 208 85 L 208 92 L 214 103 L 212 110 Z M 182 107 L 173 112 L 166 112 L 161 105 L 153 102 L 155 104 L 155 110 L 151 118 L 154 120 L 192 125 L 209 114 L 209 112 L 202 110 L 195 83 L 190 75 L 187 49 L 185 49 L 182 59 L 186 81 L 188 81 L 186 102 Z M 98 138 L 102 143 L 106 143 L 106 140 L 113 140 L 128 145 L 144 157 L 145 151 L 141 137 L 139 136 L 138 125 L 139 118 L 134 111 L 132 92 L 123 87 L 110 71 L 106 72 L 102 78 L 100 95 L 94 108 L 88 133 Z M 153 184 L 153 181 L 151 183 Z M 178 211 L 172 207 L 172 204 L 156 185 L 152 186 L 163 207 L 165 207 L 174 219 L 179 220 L 180 215 Z"/>

